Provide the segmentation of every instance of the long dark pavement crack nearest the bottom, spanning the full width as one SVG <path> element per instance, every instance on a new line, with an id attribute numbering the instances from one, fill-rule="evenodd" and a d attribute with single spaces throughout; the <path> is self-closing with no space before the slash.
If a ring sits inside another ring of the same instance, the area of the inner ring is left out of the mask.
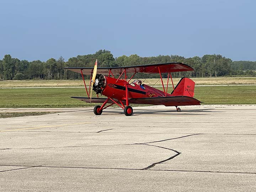
<path id="1" fill-rule="evenodd" d="M 256 175 L 256 172 L 235 172 L 235 171 L 197 171 L 197 170 L 161 170 L 161 169 L 131 169 L 131 168 L 106 168 L 106 167 L 66 167 L 66 166 L 43 166 L 43 165 L 37 165 L 37 166 L 28 166 L 28 165 L 0 165 L 0 166 L 12 166 L 12 167 L 23 167 L 20 169 L 26 169 L 26 168 L 34 168 L 34 167 L 46 167 L 46 168 L 66 168 L 66 169 L 108 169 L 108 170 L 137 170 L 137 171 L 173 171 L 173 172 L 203 172 L 203 173 L 226 173 L 226 174 L 254 174 Z M 13 169 L 13 170 L 20 170 L 20 169 Z M 6 170 L 6 171 L 12 171 L 12 170 Z M 4 172 L 4 171 L 0 171 Z"/>

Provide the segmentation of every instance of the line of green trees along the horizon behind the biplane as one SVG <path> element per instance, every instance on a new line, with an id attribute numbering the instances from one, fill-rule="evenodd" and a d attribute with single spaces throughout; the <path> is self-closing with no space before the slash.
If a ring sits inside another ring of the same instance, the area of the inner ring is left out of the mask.
<path id="1" fill-rule="evenodd" d="M 98 67 L 116 67 L 146 65 L 155 63 L 182 62 L 194 68 L 194 71 L 177 72 L 174 78 L 188 77 L 218 77 L 218 76 L 256 76 L 256 62 L 236 61 L 222 55 L 203 55 L 203 57 L 185 58 L 179 55 L 158 55 L 156 57 L 140 57 L 137 54 L 130 56 L 113 57 L 109 50 L 98 50 L 94 54 L 78 55 L 65 62 L 60 56 L 57 60 L 48 59 L 46 62 L 34 60 L 19 60 L 11 55 L 4 55 L 0 60 L 0 80 L 25 80 L 25 79 L 81 79 L 81 74 L 64 70 L 64 67 L 93 67 L 98 59 Z M 159 78 L 159 74 L 137 74 L 137 78 Z M 167 77 L 165 74 L 164 78 Z M 86 79 L 90 78 L 85 76 Z"/>

